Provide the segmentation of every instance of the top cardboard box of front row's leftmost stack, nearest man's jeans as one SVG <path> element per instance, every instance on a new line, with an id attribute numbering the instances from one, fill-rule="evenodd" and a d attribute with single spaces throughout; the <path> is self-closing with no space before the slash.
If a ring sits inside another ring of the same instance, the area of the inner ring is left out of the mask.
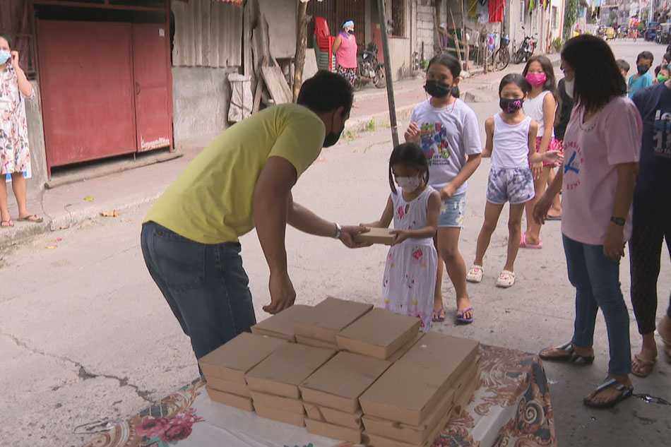
<path id="1" fill-rule="evenodd" d="M 287 341 L 243 332 L 201 357 L 198 364 L 206 378 L 217 377 L 244 384 L 244 374 L 282 345 L 287 345 Z"/>

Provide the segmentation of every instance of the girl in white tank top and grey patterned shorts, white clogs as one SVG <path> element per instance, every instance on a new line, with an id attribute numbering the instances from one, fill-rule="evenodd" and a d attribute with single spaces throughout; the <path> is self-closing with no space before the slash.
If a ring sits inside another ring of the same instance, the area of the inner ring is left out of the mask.
<path id="1" fill-rule="evenodd" d="M 536 152 L 538 124 L 522 111 L 522 102 L 530 91 L 529 83 L 519 74 L 509 74 L 499 85 L 499 105 L 502 111 L 485 121 L 487 143 L 482 157 L 492 157 L 487 180 L 485 222 L 477 237 L 475 261 L 466 280 L 482 281 L 485 273 L 483 258 L 492 233 L 496 230 L 504 204 L 510 202 L 508 220 L 508 257 L 497 279 L 498 287 L 510 287 L 515 282 L 514 263 L 520 248 L 522 213 L 525 203 L 534 197 L 530 163 L 556 161 L 557 152 Z"/>

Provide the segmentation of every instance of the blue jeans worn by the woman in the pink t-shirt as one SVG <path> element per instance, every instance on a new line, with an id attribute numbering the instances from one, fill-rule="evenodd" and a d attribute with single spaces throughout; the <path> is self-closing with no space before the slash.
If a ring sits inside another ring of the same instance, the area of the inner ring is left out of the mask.
<path id="1" fill-rule="evenodd" d="M 592 347 L 596 313 L 601 308 L 610 345 L 608 372 L 629 374 L 629 313 L 619 287 L 619 262 L 605 257 L 602 245 L 563 238 L 569 281 L 576 287 L 576 323 L 571 342 L 578 347 Z"/>

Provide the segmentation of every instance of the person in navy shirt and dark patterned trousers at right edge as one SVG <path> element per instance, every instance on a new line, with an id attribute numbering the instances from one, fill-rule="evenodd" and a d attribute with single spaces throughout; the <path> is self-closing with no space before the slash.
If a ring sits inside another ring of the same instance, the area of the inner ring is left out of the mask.
<path id="1" fill-rule="evenodd" d="M 660 71 L 660 76 L 666 72 Z M 663 242 L 671 254 L 671 81 L 667 78 L 653 88 L 634 95 L 634 104 L 643 119 L 643 140 L 639 177 L 634 189 L 634 230 L 629 244 L 631 304 L 643 345 L 631 361 L 631 372 L 639 377 L 651 373 L 657 359 L 655 318 L 657 281 Z M 657 329 L 664 352 L 671 362 L 671 298 Z"/>

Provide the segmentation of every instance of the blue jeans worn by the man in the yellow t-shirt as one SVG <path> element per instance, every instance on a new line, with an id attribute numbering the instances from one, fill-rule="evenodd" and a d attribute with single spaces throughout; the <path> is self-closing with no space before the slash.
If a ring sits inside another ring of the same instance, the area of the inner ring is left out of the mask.
<path id="1" fill-rule="evenodd" d="M 200 359 L 256 324 L 239 242 L 200 244 L 155 222 L 142 226 L 149 273 Z"/>

